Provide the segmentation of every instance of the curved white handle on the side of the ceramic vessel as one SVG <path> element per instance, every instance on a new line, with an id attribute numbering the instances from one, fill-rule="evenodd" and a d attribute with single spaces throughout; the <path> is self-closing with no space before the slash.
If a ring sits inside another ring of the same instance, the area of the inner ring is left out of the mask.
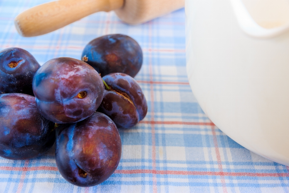
<path id="1" fill-rule="evenodd" d="M 249 36 L 256 38 L 272 38 L 289 30 L 289 24 L 280 27 L 266 29 L 259 26 L 249 14 L 241 0 L 231 0 L 231 5 L 237 17 L 239 26 Z"/>

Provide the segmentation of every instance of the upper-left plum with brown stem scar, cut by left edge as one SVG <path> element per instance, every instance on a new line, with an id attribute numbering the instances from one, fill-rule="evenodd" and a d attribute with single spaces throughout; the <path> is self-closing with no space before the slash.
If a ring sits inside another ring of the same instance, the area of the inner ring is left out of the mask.
<path id="1" fill-rule="evenodd" d="M 0 94 L 33 95 L 32 80 L 40 68 L 36 59 L 24 49 L 7 48 L 0 52 Z"/>

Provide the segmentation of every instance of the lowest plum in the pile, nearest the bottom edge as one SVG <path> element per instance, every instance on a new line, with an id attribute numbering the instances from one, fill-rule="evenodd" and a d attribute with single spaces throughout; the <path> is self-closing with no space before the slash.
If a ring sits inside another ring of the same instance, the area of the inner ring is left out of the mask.
<path id="1" fill-rule="evenodd" d="M 55 145 L 56 165 L 73 185 L 95 186 L 117 169 L 121 157 L 120 134 L 113 121 L 95 112 L 74 124 L 65 124 Z"/>

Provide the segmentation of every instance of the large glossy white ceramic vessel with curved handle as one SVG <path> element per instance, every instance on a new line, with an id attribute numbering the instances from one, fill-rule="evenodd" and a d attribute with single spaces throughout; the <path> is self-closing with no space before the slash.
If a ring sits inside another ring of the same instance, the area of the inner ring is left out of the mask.
<path id="1" fill-rule="evenodd" d="M 187 74 L 230 138 L 289 166 L 289 0 L 186 0 Z"/>

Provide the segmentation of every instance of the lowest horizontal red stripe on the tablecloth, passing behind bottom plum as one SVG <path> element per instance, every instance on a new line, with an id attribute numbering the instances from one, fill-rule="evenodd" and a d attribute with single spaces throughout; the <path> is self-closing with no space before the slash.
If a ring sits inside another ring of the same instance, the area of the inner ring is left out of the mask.
<path id="1" fill-rule="evenodd" d="M 57 167 L 38 166 L 38 167 L 8 167 L 0 166 L 0 170 L 5 171 L 35 171 L 47 170 L 58 171 Z M 200 171 L 174 171 L 174 170 L 153 170 L 153 169 L 132 169 L 115 170 L 116 174 L 159 174 L 159 175 L 184 175 L 184 176 L 250 176 L 250 177 L 289 177 L 289 173 L 251 173 L 251 172 L 200 172 Z"/>

